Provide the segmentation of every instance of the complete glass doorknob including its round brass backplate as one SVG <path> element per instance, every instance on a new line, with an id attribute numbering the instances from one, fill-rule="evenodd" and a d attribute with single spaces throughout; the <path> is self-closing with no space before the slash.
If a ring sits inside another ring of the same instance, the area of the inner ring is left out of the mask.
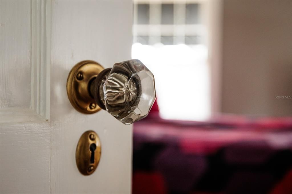
<path id="1" fill-rule="evenodd" d="M 67 94 L 79 112 L 104 109 L 124 124 L 146 117 L 156 98 L 154 76 L 138 59 L 107 69 L 94 61 L 81 61 L 69 73 Z"/>

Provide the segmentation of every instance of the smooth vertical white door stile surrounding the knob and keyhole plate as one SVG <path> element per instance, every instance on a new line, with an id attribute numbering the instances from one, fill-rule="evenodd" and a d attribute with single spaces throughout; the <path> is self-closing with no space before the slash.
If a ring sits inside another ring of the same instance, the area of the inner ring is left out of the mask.
<path id="1" fill-rule="evenodd" d="M 51 74 L 51 193 L 130 193 L 132 128 L 101 110 L 74 110 L 66 94 L 67 75 L 79 61 L 105 68 L 131 59 L 131 1 L 53 1 Z M 84 176 L 75 163 L 81 134 L 94 130 L 102 154 L 94 174 Z"/>

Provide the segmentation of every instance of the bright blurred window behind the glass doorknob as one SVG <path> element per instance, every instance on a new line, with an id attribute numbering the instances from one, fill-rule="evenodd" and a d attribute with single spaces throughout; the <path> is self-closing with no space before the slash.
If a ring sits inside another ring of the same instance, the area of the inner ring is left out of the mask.
<path id="1" fill-rule="evenodd" d="M 132 58 L 154 74 L 164 119 L 204 120 L 211 113 L 202 3 L 134 0 Z"/>

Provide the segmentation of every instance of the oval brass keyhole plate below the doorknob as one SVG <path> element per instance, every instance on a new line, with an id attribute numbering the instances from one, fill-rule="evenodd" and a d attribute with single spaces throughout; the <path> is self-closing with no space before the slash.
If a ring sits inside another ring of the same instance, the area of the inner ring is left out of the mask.
<path id="1" fill-rule="evenodd" d="M 84 132 L 76 148 L 76 164 L 79 172 L 84 175 L 92 174 L 98 166 L 100 155 L 101 144 L 98 135 L 91 130 Z"/>

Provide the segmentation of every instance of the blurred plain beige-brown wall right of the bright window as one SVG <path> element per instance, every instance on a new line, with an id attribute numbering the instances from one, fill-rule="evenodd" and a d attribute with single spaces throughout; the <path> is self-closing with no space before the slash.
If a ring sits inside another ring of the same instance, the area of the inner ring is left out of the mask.
<path id="1" fill-rule="evenodd" d="M 222 112 L 292 115 L 292 1 L 223 3 Z"/>

